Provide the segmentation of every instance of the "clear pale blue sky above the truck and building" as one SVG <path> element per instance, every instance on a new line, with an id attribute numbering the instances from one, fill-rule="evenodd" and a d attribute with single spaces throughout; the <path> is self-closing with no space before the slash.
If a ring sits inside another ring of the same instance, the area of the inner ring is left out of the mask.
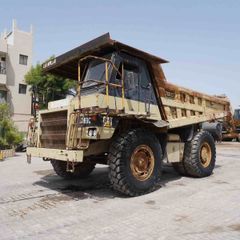
<path id="1" fill-rule="evenodd" d="M 103 33 L 167 59 L 169 82 L 240 105 L 238 0 L 0 0 L 0 31 L 34 27 L 34 62 Z"/>

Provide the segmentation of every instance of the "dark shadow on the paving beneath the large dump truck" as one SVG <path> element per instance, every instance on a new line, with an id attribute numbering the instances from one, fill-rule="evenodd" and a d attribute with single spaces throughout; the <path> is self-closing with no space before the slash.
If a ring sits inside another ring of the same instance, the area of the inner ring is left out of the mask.
<path id="1" fill-rule="evenodd" d="M 97 167 L 86 179 L 76 180 L 64 180 L 57 176 L 53 170 L 35 171 L 35 173 L 40 175 L 41 178 L 35 182 L 34 185 L 56 191 L 58 195 L 66 196 L 65 198 L 60 197 L 60 200 L 77 201 L 92 198 L 101 201 L 112 198 L 127 198 L 111 188 L 108 179 L 108 167 Z M 157 188 L 166 187 L 168 182 L 176 181 L 180 178 L 181 176 L 179 176 L 172 167 L 164 167 L 162 179 Z"/>

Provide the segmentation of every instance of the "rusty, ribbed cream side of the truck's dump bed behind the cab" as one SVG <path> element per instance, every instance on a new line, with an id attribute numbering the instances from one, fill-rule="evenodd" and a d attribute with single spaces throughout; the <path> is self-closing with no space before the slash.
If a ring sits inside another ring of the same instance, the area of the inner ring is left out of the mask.
<path id="1" fill-rule="evenodd" d="M 226 97 L 209 96 L 167 82 L 161 93 L 169 128 L 222 119 L 230 112 Z"/>

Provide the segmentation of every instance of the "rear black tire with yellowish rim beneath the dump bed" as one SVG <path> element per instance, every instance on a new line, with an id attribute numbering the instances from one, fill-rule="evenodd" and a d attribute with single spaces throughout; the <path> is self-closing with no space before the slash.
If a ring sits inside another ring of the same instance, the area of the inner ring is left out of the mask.
<path id="1" fill-rule="evenodd" d="M 207 131 L 198 132 L 191 142 L 185 144 L 183 161 L 174 168 L 191 177 L 207 177 L 212 174 L 216 161 L 216 147 L 212 135 Z"/>

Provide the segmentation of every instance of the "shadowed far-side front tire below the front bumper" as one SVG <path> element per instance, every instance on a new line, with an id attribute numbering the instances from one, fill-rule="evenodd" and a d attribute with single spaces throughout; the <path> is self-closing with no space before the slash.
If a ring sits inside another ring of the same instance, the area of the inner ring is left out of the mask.
<path id="1" fill-rule="evenodd" d="M 74 172 L 67 171 L 67 162 L 51 159 L 56 174 L 64 179 L 86 178 L 95 168 L 95 163 L 82 162 L 74 167 Z"/>

